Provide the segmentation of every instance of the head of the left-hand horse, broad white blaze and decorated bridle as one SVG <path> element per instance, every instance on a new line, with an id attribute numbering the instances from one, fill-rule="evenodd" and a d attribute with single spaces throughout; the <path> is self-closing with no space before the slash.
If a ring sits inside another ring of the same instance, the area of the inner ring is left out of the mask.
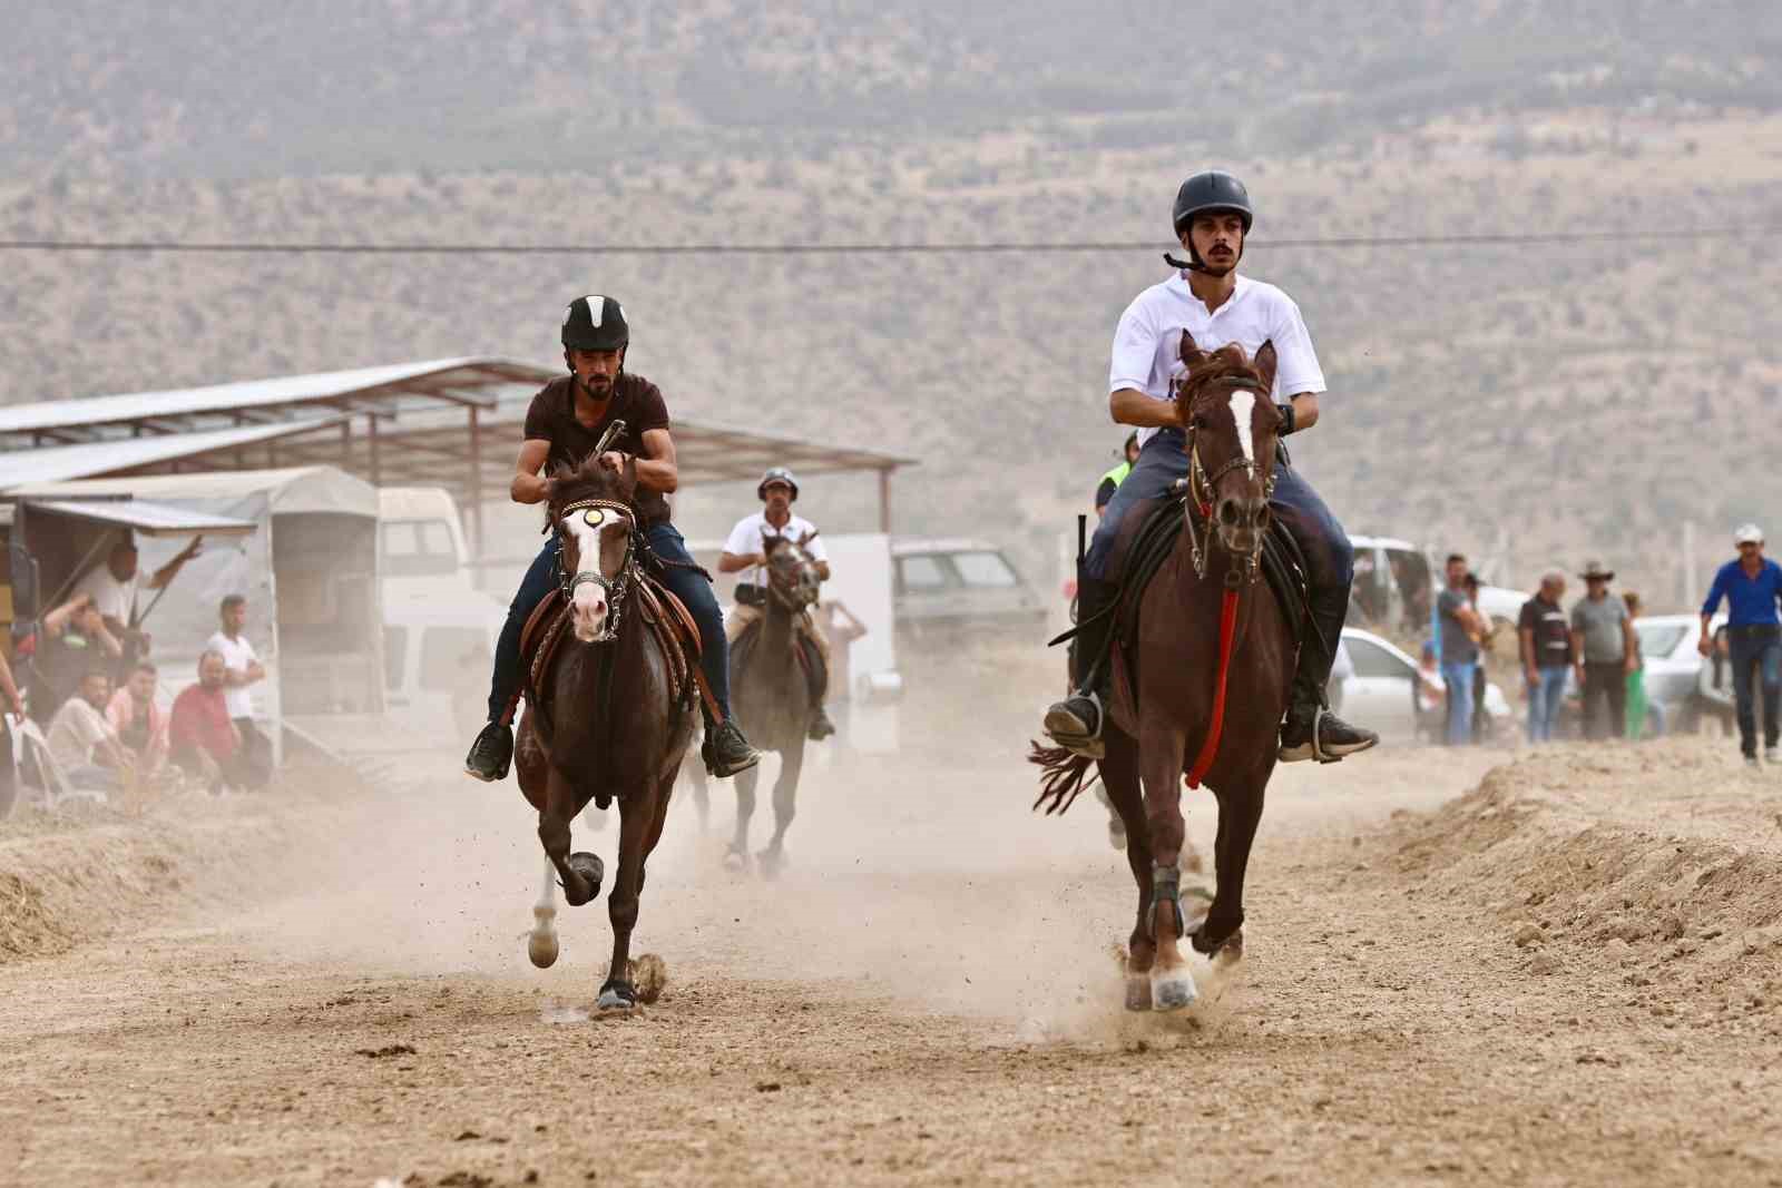
<path id="1" fill-rule="evenodd" d="M 558 534 L 563 595 L 570 629 L 583 643 L 618 638 L 618 613 L 636 565 L 638 460 L 611 467 L 599 456 L 558 467 L 545 492 L 549 525 Z"/>

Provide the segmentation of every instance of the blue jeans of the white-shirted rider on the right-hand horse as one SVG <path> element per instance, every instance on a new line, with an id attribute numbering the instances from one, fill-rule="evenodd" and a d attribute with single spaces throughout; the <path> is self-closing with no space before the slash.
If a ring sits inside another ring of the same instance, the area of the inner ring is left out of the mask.
<path id="1" fill-rule="evenodd" d="M 1146 499 L 1158 499 L 1169 493 L 1169 484 L 1189 476 L 1189 445 L 1181 429 L 1158 429 L 1139 451 L 1139 461 L 1132 474 L 1114 492 L 1108 509 L 1101 515 L 1094 540 L 1083 557 L 1083 574 L 1089 577 L 1107 577 L 1108 557 L 1114 552 L 1114 540 L 1119 536 L 1121 520 L 1133 504 Z M 1312 620 L 1328 645 L 1328 655 L 1319 657 L 1322 673 L 1315 684 L 1319 688 L 1329 677 L 1329 664 L 1336 659 L 1335 648 L 1342 638 L 1344 620 L 1349 616 L 1349 584 L 1354 581 L 1354 549 L 1349 534 L 1336 517 L 1324 504 L 1312 484 L 1297 470 L 1274 463 L 1274 499 L 1269 502 L 1276 518 L 1292 534 L 1299 550 L 1306 554 L 1306 584 L 1310 588 Z"/>

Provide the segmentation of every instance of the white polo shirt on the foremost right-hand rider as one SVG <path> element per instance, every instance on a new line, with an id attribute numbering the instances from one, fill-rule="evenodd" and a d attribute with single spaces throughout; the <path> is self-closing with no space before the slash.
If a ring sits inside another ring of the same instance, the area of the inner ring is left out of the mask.
<path id="1" fill-rule="evenodd" d="M 1217 351 L 1235 342 L 1253 358 L 1263 342 L 1274 344 L 1274 392 L 1285 401 L 1301 392 L 1322 392 L 1324 370 L 1312 351 L 1312 335 L 1294 299 L 1274 285 L 1247 276 L 1226 303 L 1212 313 L 1194 296 L 1181 274 L 1151 285 L 1126 306 L 1114 331 L 1114 363 L 1108 392 L 1137 388 L 1158 401 L 1173 401 L 1171 381 L 1187 370 L 1181 365 L 1181 331 L 1194 335 L 1203 351 Z M 1157 429 L 1139 429 L 1139 442 L 1149 442 Z"/>

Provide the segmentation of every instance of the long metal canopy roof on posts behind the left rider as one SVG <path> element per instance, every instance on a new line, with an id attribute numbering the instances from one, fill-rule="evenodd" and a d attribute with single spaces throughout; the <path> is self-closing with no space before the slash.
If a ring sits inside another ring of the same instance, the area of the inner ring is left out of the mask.
<path id="1" fill-rule="evenodd" d="M 0 490 L 114 474 L 331 465 L 372 486 L 437 484 L 469 511 L 513 477 L 526 408 L 561 374 L 513 360 L 446 358 L 0 406 Z M 683 484 L 873 470 L 889 531 L 889 476 L 914 460 L 736 426 L 675 420 Z M 249 454 L 249 447 L 255 449 Z"/>

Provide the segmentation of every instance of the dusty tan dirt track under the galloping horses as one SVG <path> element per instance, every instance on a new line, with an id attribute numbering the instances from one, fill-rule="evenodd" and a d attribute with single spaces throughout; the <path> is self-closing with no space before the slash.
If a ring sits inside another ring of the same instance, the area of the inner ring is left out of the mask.
<path id="1" fill-rule="evenodd" d="M 203 894 L 0 965 L 0 1181 L 1782 1183 L 1782 775 L 1725 743 L 1283 769 L 1246 980 L 1194 1022 L 1119 1008 L 1099 807 L 1028 818 L 1003 755 L 816 771 L 779 883 L 681 810 L 629 1021 L 577 1017 L 601 907 L 526 964 L 511 787 L 175 812 Z M 116 821 L 5 830 L 18 894 L 103 839 L 39 914 L 135 867 Z"/>

